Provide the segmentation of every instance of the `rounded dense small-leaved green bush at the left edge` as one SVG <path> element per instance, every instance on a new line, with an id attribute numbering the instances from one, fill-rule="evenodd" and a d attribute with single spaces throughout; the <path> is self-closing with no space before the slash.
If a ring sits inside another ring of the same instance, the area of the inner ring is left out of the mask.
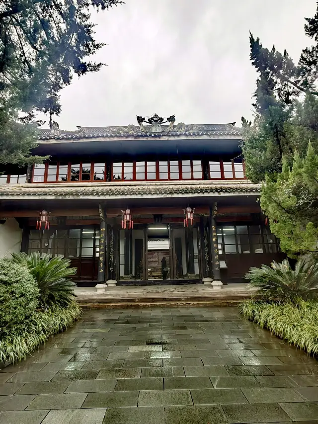
<path id="1" fill-rule="evenodd" d="M 0 335 L 29 320 L 38 306 L 39 289 L 29 269 L 0 259 Z"/>

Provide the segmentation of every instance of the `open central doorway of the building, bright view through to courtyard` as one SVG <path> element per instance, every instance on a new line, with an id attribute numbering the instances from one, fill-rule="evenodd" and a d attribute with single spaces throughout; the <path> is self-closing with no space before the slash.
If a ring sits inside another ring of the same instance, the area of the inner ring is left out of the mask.
<path id="1" fill-rule="evenodd" d="M 167 225 L 150 225 L 147 229 L 147 268 L 149 280 L 169 280 L 170 239 Z"/>

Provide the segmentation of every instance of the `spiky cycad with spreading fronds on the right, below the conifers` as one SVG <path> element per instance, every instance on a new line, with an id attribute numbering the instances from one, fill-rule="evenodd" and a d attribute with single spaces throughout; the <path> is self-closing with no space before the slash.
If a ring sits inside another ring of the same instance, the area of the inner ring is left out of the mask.
<path id="1" fill-rule="evenodd" d="M 272 266 L 250 268 L 245 278 L 258 288 L 256 295 L 269 300 L 291 300 L 294 303 L 318 299 L 318 263 L 310 258 L 298 260 L 293 270 L 287 259 Z"/>

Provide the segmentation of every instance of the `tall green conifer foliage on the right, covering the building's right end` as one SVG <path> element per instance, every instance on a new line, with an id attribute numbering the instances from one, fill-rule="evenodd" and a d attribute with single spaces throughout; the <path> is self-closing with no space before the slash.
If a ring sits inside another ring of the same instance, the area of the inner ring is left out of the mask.
<path id="1" fill-rule="evenodd" d="M 268 50 L 250 34 L 255 119 L 242 118 L 247 177 L 265 180 L 261 207 L 290 256 L 318 252 L 318 8 L 306 21 L 316 44 L 303 50 L 298 65 L 286 50 Z"/>

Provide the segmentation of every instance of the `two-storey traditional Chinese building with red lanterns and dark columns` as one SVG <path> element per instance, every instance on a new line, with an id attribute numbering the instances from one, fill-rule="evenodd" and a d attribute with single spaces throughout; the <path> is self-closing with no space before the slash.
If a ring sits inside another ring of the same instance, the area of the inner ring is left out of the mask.
<path id="1" fill-rule="evenodd" d="M 0 256 L 63 255 L 87 286 L 217 286 L 284 257 L 260 185 L 245 178 L 235 123 L 137 122 L 77 131 L 53 122 L 33 152 L 50 160 L 2 167 Z"/>

